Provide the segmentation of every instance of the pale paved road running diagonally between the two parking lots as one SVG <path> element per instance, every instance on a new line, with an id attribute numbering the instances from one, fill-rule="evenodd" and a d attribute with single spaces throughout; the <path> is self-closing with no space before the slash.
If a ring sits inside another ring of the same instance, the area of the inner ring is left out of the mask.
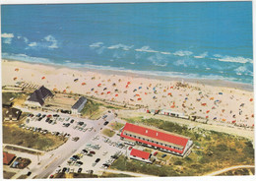
<path id="1" fill-rule="evenodd" d="M 114 119 L 113 114 L 108 114 L 106 120 L 110 121 Z M 75 151 L 81 147 L 85 147 L 85 144 L 91 140 L 96 134 L 100 131 L 100 128 L 103 127 L 104 121 L 102 119 L 96 120 L 94 125 L 94 130 L 92 132 L 87 132 L 83 137 L 80 137 L 78 142 L 69 140 L 63 146 L 58 148 L 55 151 L 49 151 L 48 155 L 52 155 L 49 158 L 46 158 L 41 161 L 39 167 L 32 169 L 32 175 L 30 178 L 47 178 L 59 165 L 61 165 L 65 160 L 67 160 Z"/>

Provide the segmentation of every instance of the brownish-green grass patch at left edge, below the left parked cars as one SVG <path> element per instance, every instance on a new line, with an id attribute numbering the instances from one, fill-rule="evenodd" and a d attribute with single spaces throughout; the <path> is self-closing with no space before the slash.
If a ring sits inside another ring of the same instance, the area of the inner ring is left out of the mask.
<path id="1" fill-rule="evenodd" d="M 40 151 L 50 151 L 58 148 L 67 141 L 66 138 L 51 134 L 42 135 L 19 128 L 16 123 L 3 124 L 3 143 L 23 146 Z"/>

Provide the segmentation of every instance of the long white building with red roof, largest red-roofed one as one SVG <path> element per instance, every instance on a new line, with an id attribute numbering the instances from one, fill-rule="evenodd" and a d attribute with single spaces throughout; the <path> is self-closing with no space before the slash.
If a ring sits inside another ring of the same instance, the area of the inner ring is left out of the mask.
<path id="1" fill-rule="evenodd" d="M 126 123 L 121 138 L 137 144 L 183 156 L 193 145 L 188 137 Z"/>

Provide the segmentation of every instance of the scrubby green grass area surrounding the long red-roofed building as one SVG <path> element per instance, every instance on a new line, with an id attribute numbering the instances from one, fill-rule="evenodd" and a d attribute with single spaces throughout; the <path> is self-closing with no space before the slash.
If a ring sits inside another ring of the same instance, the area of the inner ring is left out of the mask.
<path id="1" fill-rule="evenodd" d="M 111 168 L 159 176 L 192 176 L 204 175 L 233 165 L 254 164 L 253 145 L 245 138 L 200 128 L 189 129 L 187 126 L 160 119 L 137 117 L 126 119 L 126 121 L 131 123 L 141 122 L 145 125 L 155 126 L 168 132 L 189 137 L 193 140 L 195 147 L 189 156 L 184 158 L 167 153 L 167 156 L 162 159 L 161 167 L 156 163 L 149 165 L 137 160 L 127 161 L 125 167 L 124 157 L 122 157 L 114 162 Z M 160 155 L 162 153 L 159 151 L 157 156 L 159 159 L 161 159 Z"/>

